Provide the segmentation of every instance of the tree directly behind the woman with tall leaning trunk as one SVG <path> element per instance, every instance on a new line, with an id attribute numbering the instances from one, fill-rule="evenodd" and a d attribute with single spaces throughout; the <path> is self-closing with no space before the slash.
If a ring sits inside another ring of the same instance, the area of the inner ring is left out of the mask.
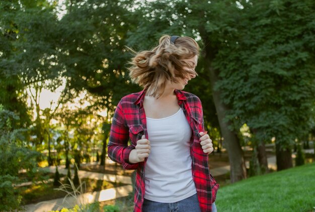
<path id="1" fill-rule="evenodd" d="M 220 69 L 214 68 L 213 62 L 221 48 L 225 48 L 225 37 L 232 36 L 237 30 L 237 19 L 240 16 L 238 8 L 229 1 L 155 1 L 151 3 L 139 3 L 138 28 L 129 33 L 128 43 L 131 47 L 141 44 L 141 48 L 149 48 L 163 34 L 186 35 L 200 40 L 203 49 L 200 55 L 201 65 L 198 65 L 198 73 L 202 73 L 198 89 L 192 90 L 196 95 L 205 96 L 205 91 L 211 92 L 202 100 L 209 102 L 204 110 L 211 120 L 212 126 L 218 126 L 224 144 L 229 154 L 231 165 L 231 182 L 246 178 L 246 167 L 237 133 L 239 131 L 231 127 L 231 121 L 224 121 L 227 105 L 222 102 L 220 91 L 215 90 L 220 80 Z M 154 32 L 152 32 L 154 28 Z M 202 82 L 202 84 L 201 84 Z M 213 101 L 209 100 L 213 98 Z M 214 104 L 213 104 L 214 103 Z M 209 108 L 207 106 L 209 105 Z M 214 107 L 216 114 L 214 112 Z M 214 120 L 217 116 L 217 120 Z M 213 121 L 214 120 L 214 121 Z"/>

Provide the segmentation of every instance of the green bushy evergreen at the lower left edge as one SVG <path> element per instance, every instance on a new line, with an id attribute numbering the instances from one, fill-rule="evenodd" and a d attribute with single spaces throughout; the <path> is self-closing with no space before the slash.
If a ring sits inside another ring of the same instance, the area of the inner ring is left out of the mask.
<path id="1" fill-rule="evenodd" d="M 21 183 L 18 173 L 25 169 L 29 175 L 37 172 L 36 157 L 39 153 L 25 147 L 25 129 L 14 128 L 19 117 L 0 105 L 0 211 L 19 209 L 20 191 L 14 184 Z"/>

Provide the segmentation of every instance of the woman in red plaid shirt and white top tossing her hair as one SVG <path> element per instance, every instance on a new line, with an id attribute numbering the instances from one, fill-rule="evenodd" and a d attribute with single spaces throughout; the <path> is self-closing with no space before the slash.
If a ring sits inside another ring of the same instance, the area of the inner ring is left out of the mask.
<path id="1" fill-rule="evenodd" d="M 165 35 L 130 62 L 131 80 L 143 91 L 118 103 L 108 155 L 124 169 L 136 169 L 136 212 L 216 211 L 219 185 L 208 168 L 213 147 L 201 102 L 181 91 L 197 75 L 198 55 L 194 39 Z"/>

